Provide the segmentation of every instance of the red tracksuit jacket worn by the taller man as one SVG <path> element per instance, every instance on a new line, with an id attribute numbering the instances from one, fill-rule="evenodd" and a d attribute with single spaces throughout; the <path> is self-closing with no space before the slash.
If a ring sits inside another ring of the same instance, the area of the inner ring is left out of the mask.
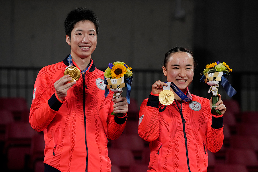
<path id="1" fill-rule="evenodd" d="M 96 80 L 103 79 L 104 72 L 92 60 L 67 97 L 58 99 L 53 84 L 64 76 L 67 57 L 42 68 L 34 86 L 30 125 L 36 131 L 44 130 L 44 163 L 63 172 L 110 171 L 107 142 L 122 134 L 126 117 L 110 115 L 112 94 L 105 98 L 105 90 L 97 87 Z"/>

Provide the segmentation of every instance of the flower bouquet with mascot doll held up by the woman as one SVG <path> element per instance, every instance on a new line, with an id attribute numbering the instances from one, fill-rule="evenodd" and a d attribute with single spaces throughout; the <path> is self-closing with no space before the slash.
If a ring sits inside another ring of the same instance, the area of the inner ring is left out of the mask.
<path id="1" fill-rule="evenodd" d="M 203 73 L 201 73 L 203 74 L 201 81 L 204 81 L 210 85 L 208 93 L 211 93 L 212 95 L 212 114 L 218 113 L 221 115 L 220 111 L 215 109 L 217 107 L 215 103 L 218 101 L 218 87 L 220 81 L 222 87 L 225 89 L 229 97 L 232 97 L 234 94 L 236 94 L 236 90 L 234 90 L 234 88 L 227 80 L 229 72 L 232 72 L 232 69 L 230 69 L 225 62 L 214 62 L 207 64 L 206 69 L 204 69 Z"/>

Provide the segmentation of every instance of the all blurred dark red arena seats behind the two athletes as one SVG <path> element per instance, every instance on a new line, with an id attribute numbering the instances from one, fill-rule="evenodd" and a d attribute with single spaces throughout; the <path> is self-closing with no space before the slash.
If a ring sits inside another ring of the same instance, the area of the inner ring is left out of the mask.
<path id="1" fill-rule="evenodd" d="M 124 132 L 109 140 L 112 172 L 146 172 L 149 142 L 138 135 L 139 102 L 131 98 Z M 208 172 L 258 171 L 258 112 L 242 112 L 235 100 L 224 100 L 224 143 L 220 151 L 208 151 Z M 44 136 L 34 131 L 24 98 L 0 98 L 0 148 L 4 171 L 44 171 Z"/>

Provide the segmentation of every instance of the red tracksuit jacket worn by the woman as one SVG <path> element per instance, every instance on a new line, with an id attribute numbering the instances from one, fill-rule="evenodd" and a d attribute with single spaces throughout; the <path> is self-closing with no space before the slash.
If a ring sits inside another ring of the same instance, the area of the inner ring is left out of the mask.
<path id="1" fill-rule="evenodd" d="M 211 114 L 208 99 L 192 97 L 190 102 L 175 100 L 164 106 L 151 93 L 142 102 L 138 132 L 150 142 L 148 172 L 207 171 L 207 149 L 220 150 L 223 117 Z"/>

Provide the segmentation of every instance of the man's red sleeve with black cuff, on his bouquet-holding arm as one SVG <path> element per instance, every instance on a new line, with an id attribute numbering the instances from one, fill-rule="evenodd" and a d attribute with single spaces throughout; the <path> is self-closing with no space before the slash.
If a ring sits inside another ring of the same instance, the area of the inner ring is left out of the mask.
<path id="1" fill-rule="evenodd" d="M 107 138 L 116 140 L 124 131 L 127 114 L 122 118 L 111 115 L 113 112 L 113 101 L 110 102 L 110 109 L 107 116 Z"/>

